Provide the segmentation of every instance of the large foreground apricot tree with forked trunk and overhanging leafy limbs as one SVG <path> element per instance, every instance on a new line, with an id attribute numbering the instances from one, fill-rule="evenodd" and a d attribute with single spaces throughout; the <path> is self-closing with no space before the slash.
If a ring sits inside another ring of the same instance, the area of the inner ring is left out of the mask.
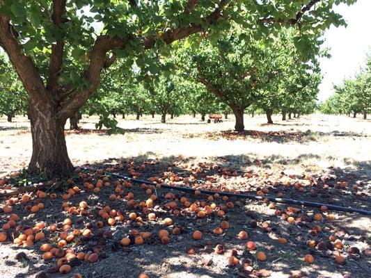
<path id="1" fill-rule="evenodd" d="M 297 47 L 310 52 L 318 30 L 344 23 L 333 4 L 354 1 L 0 0 L 0 46 L 29 95 L 30 172 L 71 174 L 63 127 L 116 60 L 156 74 L 148 51 L 166 55 L 175 40 L 217 38 L 230 22 L 260 36 L 297 25 Z"/>

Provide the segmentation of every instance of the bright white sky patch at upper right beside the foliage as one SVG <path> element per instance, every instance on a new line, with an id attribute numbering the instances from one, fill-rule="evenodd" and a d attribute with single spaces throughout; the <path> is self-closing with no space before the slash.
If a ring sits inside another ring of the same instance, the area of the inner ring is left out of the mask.
<path id="1" fill-rule="evenodd" d="M 333 83 L 354 76 L 365 65 L 367 53 L 371 54 L 371 0 L 341 4 L 335 11 L 344 17 L 347 27 L 331 26 L 324 34 L 323 47 L 330 48 L 331 58 L 320 60 L 324 79 L 319 85 L 319 101 L 333 94 Z"/>

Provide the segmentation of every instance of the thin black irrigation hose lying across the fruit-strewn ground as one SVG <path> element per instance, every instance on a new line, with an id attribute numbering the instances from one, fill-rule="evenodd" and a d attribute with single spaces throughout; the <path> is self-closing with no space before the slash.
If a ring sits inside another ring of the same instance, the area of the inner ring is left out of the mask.
<path id="1" fill-rule="evenodd" d="M 95 170 L 94 168 L 90 167 L 83 167 L 84 170 Z M 120 174 L 113 174 L 111 172 L 106 172 L 106 174 L 109 174 L 114 177 L 118 177 L 120 179 L 125 179 L 127 181 L 132 181 L 133 183 L 145 183 L 151 186 L 156 186 L 158 183 L 154 183 L 152 181 L 143 181 L 141 179 L 133 179 L 130 177 L 126 177 Z M 358 208 L 347 208 L 345 206 L 336 206 L 333 204 L 322 204 L 317 202 L 310 202 L 310 201 L 301 201 L 297 199 L 286 199 L 286 198 L 276 198 L 276 197 L 269 197 L 269 196 L 256 196 L 256 195 L 248 195 L 248 194 L 240 194 L 240 193 L 228 193 L 228 192 L 215 192 L 211 190 L 203 190 L 203 189 L 194 189 L 194 188 L 187 188 L 183 186 L 170 186 L 168 184 L 161 183 L 161 188 L 167 188 L 167 189 L 173 189 L 177 191 L 187 192 L 187 193 L 194 193 L 196 190 L 200 191 L 200 193 L 207 194 L 207 195 L 214 195 L 215 193 L 218 193 L 221 196 L 227 196 L 227 197 L 239 197 L 242 199 L 256 199 L 262 201 L 263 199 L 267 199 L 270 202 L 276 202 L 281 204 L 298 204 L 301 206 L 313 206 L 316 208 L 320 208 L 321 206 L 327 206 L 327 208 L 332 209 L 334 211 L 346 211 L 349 213 L 361 213 L 364 215 L 371 215 L 371 211 L 365 211 L 363 209 Z"/>

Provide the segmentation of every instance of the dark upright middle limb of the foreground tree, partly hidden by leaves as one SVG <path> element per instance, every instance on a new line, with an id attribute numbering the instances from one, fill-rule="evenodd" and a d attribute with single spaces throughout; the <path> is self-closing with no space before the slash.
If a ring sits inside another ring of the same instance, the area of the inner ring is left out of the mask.
<path id="1" fill-rule="evenodd" d="M 65 3 L 66 0 L 53 1 L 52 20 L 56 28 L 60 28 L 61 24 L 65 22 L 65 19 L 63 19 L 63 16 L 66 13 Z M 62 70 L 63 49 L 63 40 L 57 40 L 56 44 L 52 45 L 52 54 L 50 55 L 49 61 L 49 76 L 47 78 L 47 90 L 50 90 L 54 93 L 56 93 L 56 89 L 58 87 L 58 76 L 61 74 Z"/>

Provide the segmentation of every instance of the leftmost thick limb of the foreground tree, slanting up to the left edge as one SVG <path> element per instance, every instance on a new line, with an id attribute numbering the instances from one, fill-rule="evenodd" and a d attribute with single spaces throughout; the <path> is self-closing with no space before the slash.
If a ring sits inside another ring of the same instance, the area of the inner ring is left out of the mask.
<path id="1" fill-rule="evenodd" d="M 5 15 L 0 15 L 1 45 L 8 54 L 19 79 L 22 80 L 26 92 L 30 97 L 40 100 L 41 97 L 46 97 L 47 92 L 38 70 L 31 58 L 24 54 L 24 49 L 16 36 L 17 31 L 10 24 L 10 19 Z"/>

